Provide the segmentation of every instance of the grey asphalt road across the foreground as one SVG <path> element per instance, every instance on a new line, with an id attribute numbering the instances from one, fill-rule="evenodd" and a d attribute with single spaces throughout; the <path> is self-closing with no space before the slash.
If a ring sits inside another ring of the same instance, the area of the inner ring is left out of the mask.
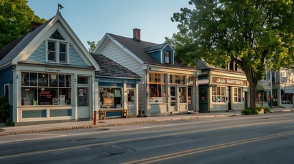
<path id="1" fill-rule="evenodd" d="M 294 163 L 294 112 L 0 137 L 0 163 Z"/>

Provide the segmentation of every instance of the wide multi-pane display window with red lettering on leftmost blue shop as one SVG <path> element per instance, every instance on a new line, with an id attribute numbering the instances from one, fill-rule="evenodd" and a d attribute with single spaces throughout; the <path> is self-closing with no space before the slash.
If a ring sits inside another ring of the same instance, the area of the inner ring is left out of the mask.
<path id="1" fill-rule="evenodd" d="M 21 105 L 71 105 L 71 76 L 22 72 Z"/>

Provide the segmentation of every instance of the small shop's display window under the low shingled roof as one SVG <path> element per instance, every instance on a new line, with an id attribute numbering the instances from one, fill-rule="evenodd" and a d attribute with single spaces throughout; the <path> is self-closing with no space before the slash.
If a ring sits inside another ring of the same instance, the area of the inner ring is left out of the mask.
<path id="1" fill-rule="evenodd" d="M 100 87 L 100 107 L 101 108 L 122 108 L 122 88 Z"/>

